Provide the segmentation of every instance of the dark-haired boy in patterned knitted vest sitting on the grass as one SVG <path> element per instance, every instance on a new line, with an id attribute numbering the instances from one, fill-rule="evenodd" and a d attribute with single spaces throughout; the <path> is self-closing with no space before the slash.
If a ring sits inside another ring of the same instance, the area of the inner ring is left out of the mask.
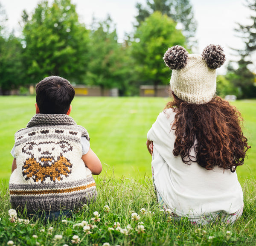
<path id="1" fill-rule="evenodd" d="M 102 164 L 90 148 L 87 130 L 69 116 L 75 96 L 70 82 L 51 76 L 35 90 L 36 114 L 15 133 L 11 151 L 11 204 L 48 215 L 73 210 L 95 200 L 92 174 L 100 174 Z"/>

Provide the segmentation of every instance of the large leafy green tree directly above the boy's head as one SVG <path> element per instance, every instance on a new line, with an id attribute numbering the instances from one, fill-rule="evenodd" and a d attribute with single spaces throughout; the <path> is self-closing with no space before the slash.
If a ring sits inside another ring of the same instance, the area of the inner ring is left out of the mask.
<path id="1" fill-rule="evenodd" d="M 70 0 L 38 4 L 32 17 L 23 12 L 24 64 L 27 83 L 49 75 L 74 82 L 83 78 L 87 68 L 88 30 L 79 23 L 76 6 Z"/>

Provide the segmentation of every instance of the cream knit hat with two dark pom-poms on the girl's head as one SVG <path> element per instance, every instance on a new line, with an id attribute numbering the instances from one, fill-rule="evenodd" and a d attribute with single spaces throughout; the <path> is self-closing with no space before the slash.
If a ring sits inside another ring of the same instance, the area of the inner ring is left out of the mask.
<path id="1" fill-rule="evenodd" d="M 216 92 L 216 68 L 225 62 L 219 45 L 208 45 L 202 55 L 189 54 L 182 46 L 169 48 L 163 60 L 172 69 L 171 89 L 183 101 L 205 104 Z"/>

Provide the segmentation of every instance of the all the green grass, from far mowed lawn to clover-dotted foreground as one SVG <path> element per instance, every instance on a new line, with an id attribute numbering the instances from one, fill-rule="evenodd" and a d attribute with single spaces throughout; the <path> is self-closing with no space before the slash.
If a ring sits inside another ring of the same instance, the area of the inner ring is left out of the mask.
<path id="1" fill-rule="evenodd" d="M 6 245 L 9 240 L 16 246 L 73 245 L 73 236 L 77 236 L 80 239 L 79 245 L 92 246 L 102 246 L 104 243 L 111 246 L 255 246 L 256 100 L 234 102 L 244 117 L 244 133 L 252 146 L 248 152 L 249 158 L 237 171 L 244 190 L 244 213 L 234 225 L 217 222 L 206 226 L 191 225 L 186 219 L 171 220 L 160 211 L 155 199 L 151 182 L 151 156 L 145 147 L 145 140 L 149 128 L 167 100 L 76 97 L 72 103 L 71 116 L 87 128 L 91 148 L 104 163 L 102 174 L 95 177 L 98 198 L 87 208 L 76 211 L 75 216 L 67 218 L 67 221 L 44 222 L 32 218 L 25 224 L 9 220 L 10 204 L 6 187 L 11 173 L 13 136 L 34 115 L 35 98 L 0 97 L 1 245 Z M 108 205 L 109 211 L 105 211 L 105 205 Z M 142 213 L 142 208 L 146 212 Z M 99 222 L 91 220 L 94 211 L 100 214 Z M 133 212 L 140 219 L 132 220 Z M 26 218 L 25 214 L 18 214 L 18 217 Z M 96 225 L 97 228 L 91 228 L 92 233 L 87 234 L 82 227 L 75 226 L 82 221 Z M 120 223 L 122 230 L 116 230 L 114 223 Z M 128 225 L 131 225 L 131 229 L 127 229 Z M 61 236 L 56 238 L 55 235 Z"/>

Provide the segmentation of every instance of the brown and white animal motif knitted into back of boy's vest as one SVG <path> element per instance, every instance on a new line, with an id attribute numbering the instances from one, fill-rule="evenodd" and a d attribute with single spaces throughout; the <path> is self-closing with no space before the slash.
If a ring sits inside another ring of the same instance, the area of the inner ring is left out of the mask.
<path id="1" fill-rule="evenodd" d="M 68 177 L 72 172 L 72 163 L 63 156 L 73 147 L 67 141 L 28 142 L 22 152 L 29 155 L 22 166 L 22 174 L 26 180 L 43 183 L 47 177 L 55 182 Z"/>

